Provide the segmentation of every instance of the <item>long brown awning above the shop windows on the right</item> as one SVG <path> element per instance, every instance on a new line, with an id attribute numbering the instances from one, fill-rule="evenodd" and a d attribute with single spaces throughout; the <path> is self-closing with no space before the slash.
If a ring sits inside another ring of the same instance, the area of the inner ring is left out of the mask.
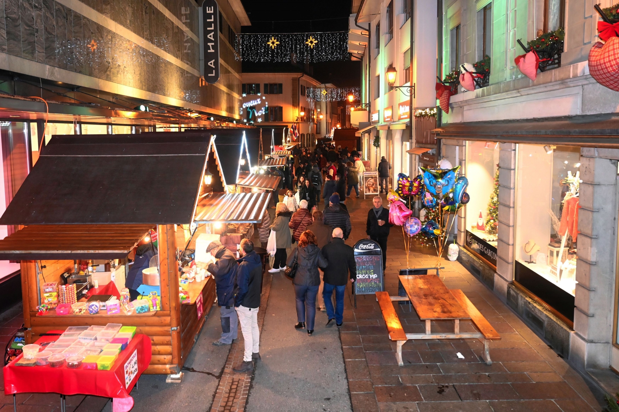
<path id="1" fill-rule="evenodd" d="M 449 123 L 431 132 L 437 139 L 619 148 L 619 114 Z"/>

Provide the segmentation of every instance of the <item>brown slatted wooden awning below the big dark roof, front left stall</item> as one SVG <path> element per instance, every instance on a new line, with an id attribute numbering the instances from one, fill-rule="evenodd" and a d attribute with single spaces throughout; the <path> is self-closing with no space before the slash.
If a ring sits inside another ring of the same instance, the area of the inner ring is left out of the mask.
<path id="1" fill-rule="evenodd" d="M 124 259 L 152 225 L 30 225 L 0 240 L 0 260 Z"/>

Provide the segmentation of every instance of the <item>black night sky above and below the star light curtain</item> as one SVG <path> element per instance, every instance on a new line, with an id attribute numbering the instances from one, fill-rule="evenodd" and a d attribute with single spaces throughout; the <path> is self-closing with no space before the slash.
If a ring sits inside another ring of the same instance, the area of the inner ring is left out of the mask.
<path id="1" fill-rule="evenodd" d="M 251 20 L 243 33 L 339 32 L 348 30 L 350 0 L 241 0 Z M 243 71 L 287 71 L 287 65 L 244 63 Z M 288 66 L 290 67 L 290 66 Z M 313 77 L 339 87 L 358 86 L 361 82 L 358 61 L 332 61 L 313 64 Z"/>

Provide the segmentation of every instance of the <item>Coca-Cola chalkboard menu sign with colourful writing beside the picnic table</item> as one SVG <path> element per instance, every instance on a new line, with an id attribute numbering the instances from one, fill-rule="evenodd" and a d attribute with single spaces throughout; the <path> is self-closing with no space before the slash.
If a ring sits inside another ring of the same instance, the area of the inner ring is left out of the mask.
<path id="1" fill-rule="evenodd" d="M 370 239 L 358 241 L 354 247 L 357 263 L 355 294 L 374 294 L 382 292 L 383 252 L 378 243 Z"/>

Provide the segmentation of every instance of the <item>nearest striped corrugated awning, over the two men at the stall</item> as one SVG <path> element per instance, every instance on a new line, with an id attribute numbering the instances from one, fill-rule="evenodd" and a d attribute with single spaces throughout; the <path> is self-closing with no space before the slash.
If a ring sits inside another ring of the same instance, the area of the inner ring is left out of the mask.
<path id="1" fill-rule="evenodd" d="M 214 193 L 204 195 L 196 207 L 196 223 L 260 223 L 271 193 Z"/>

